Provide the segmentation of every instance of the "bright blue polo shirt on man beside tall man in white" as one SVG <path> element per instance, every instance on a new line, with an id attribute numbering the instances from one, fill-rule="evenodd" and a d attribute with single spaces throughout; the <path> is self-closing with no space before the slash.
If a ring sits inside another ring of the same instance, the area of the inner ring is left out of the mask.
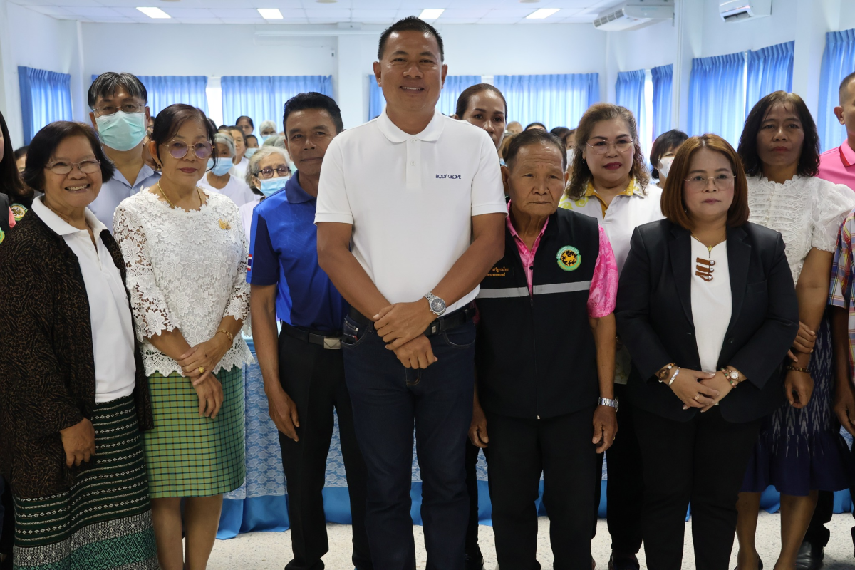
<path id="1" fill-rule="evenodd" d="M 276 285 L 276 317 L 315 331 L 340 331 L 347 303 L 318 265 L 315 206 L 298 182 L 265 198 L 252 211 L 251 285 Z"/>

